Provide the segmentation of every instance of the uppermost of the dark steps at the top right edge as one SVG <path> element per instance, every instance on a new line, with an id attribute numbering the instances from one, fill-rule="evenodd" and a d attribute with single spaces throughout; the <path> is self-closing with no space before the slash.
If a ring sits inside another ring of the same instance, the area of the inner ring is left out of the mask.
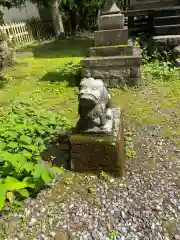
<path id="1" fill-rule="evenodd" d="M 175 16 L 175 15 L 180 15 L 180 6 L 154 9 L 155 17 Z"/>

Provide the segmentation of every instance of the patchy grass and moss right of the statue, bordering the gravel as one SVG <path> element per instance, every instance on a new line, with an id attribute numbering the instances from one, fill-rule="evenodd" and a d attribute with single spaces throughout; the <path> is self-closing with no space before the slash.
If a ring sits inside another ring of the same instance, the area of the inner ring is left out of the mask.
<path id="1" fill-rule="evenodd" d="M 142 66 L 142 88 L 113 90 L 113 101 L 124 109 L 128 121 L 162 125 L 164 137 L 180 143 L 180 72 L 157 62 Z"/>

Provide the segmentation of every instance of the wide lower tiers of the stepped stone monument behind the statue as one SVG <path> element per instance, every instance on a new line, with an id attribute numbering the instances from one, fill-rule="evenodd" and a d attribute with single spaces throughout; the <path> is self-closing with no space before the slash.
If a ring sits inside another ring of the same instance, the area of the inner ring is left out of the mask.
<path id="1" fill-rule="evenodd" d="M 118 53 L 119 51 L 122 55 Z M 139 48 L 133 48 L 132 44 L 91 48 L 90 54 L 90 57 L 81 60 L 83 77 L 91 76 L 94 79 L 101 79 L 106 87 L 142 84 L 141 51 Z M 114 54 L 115 56 L 113 56 Z"/>

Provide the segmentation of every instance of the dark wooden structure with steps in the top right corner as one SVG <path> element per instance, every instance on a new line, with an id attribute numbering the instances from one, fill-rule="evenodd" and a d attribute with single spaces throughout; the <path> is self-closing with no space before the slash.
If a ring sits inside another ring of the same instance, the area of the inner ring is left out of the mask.
<path id="1" fill-rule="evenodd" d="M 179 0 L 124 0 L 130 32 L 180 34 Z"/>

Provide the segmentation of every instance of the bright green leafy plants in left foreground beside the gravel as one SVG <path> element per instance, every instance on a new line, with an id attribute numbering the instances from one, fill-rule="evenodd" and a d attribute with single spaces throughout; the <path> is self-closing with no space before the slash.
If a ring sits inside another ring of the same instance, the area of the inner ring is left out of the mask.
<path id="1" fill-rule="evenodd" d="M 46 164 L 46 142 L 69 126 L 68 120 L 24 103 L 14 103 L 0 119 L 0 210 L 48 185 L 58 168 Z M 59 169 L 61 171 L 61 169 Z"/>

